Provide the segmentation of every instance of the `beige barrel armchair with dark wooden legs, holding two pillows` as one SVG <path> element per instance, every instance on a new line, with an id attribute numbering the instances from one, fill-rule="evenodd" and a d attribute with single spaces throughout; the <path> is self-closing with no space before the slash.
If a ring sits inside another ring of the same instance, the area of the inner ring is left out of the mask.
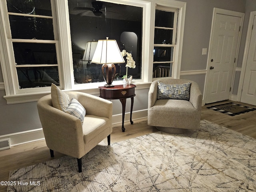
<path id="1" fill-rule="evenodd" d="M 51 95 L 38 100 L 38 114 L 51 156 L 57 151 L 77 158 L 78 171 L 82 172 L 82 156 L 106 137 L 110 145 L 112 102 L 82 92 L 65 93 L 86 109 L 83 124 L 79 118 L 54 108 Z"/>

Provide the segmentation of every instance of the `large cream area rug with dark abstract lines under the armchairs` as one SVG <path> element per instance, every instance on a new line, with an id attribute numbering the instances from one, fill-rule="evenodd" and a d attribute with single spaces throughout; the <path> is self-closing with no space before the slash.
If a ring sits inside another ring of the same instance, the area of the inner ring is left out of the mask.
<path id="1" fill-rule="evenodd" d="M 155 132 L 82 158 L 64 156 L 10 172 L 18 192 L 256 191 L 256 140 L 202 120 L 185 134 Z M 18 184 L 22 182 L 22 184 Z M 24 185 L 27 183 L 28 185 Z"/>

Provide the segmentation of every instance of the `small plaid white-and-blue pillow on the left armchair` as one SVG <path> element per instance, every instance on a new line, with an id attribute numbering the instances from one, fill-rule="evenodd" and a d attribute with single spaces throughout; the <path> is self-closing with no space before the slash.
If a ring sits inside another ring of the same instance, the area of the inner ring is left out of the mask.
<path id="1" fill-rule="evenodd" d="M 80 104 L 80 102 L 75 98 L 72 98 L 70 105 L 64 112 L 79 118 L 83 124 L 86 110 L 84 106 L 82 106 L 82 104 Z"/>

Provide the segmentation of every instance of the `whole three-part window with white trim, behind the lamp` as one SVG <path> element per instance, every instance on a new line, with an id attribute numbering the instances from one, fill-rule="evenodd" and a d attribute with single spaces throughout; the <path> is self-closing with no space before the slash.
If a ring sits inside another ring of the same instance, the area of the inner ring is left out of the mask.
<path id="1" fill-rule="evenodd" d="M 87 44 L 106 37 L 132 53 L 136 68 L 128 68 L 128 75 L 138 88 L 162 76 L 179 78 L 185 8 L 176 0 L 161 6 L 158 0 L 2 0 L 4 98 L 36 101 L 52 83 L 96 93 L 103 82 L 101 66 L 91 62 L 93 48 Z M 116 64 L 113 84 L 122 84 L 124 74 L 125 64 Z"/>

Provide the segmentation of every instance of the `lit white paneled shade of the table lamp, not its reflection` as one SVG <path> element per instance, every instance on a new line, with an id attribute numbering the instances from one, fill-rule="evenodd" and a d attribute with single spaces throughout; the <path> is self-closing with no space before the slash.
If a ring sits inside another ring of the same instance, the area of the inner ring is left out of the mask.
<path id="1" fill-rule="evenodd" d="M 92 63 L 114 64 L 124 62 L 116 40 L 108 40 L 108 38 L 106 40 L 98 40 Z"/>

